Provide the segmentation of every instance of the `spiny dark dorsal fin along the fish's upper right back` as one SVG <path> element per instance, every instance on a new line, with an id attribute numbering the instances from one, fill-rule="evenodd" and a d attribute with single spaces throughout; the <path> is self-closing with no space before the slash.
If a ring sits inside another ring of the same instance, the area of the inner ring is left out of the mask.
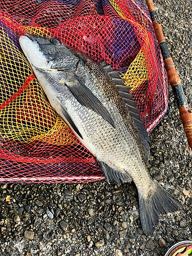
<path id="1" fill-rule="evenodd" d="M 108 72 L 108 74 L 113 79 L 116 88 L 120 96 L 122 97 L 123 101 L 125 102 L 126 108 L 129 111 L 133 122 L 135 123 L 141 143 L 143 145 L 144 157 L 147 162 L 150 155 L 150 145 L 148 144 L 150 143 L 150 137 L 148 136 L 146 128 L 144 127 L 143 122 L 141 121 L 139 110 L 136 107 L 137 102 L 135 102 L 132 99 L 132 95 L 130 94 L 131 88 L 124 85 L 124 80 L 121 79 L 119 76 L 120 72 L 114 71 L 112 65 L 104 65 L 106 65 L 106 62 L 103 61 L 102 67 L 105 69 L 106 72 Z"/>

